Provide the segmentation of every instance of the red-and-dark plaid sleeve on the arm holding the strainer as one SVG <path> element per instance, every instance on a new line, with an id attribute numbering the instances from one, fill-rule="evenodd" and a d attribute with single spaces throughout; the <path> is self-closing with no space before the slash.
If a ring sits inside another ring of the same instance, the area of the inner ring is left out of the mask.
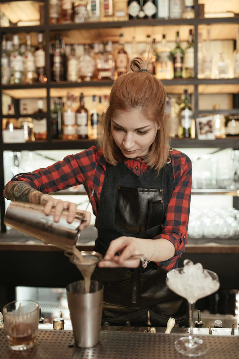
<path id="1" fill-rule="evenodd" d="M 169 201 L 162 225 L 162 232 L 154 239 L 165 238 L 175 247 L 175 256 L 167 261 L 157 262 L 163 269 L 169 271 L 178 265 L 178 260 L 185 251 L 187 244 L 187 228 L 190 211 L 190 196 L 192 187 L 191 160 L 180 151 L 172 151 L 172 164 L 175 177 L 175 189 Z"/>

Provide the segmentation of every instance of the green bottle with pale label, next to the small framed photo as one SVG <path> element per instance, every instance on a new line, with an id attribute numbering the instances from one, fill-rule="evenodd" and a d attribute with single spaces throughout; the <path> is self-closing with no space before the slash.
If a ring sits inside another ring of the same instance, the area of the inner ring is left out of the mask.
<path id="1" fill-rule="evenodd" d="M 192 137 L 191 127 L 193 120 L 192 105 L 189 102 L 188 90 L 184 90 L 184 100 L 179 106 L 180 116 L 180 128 L 178 131 L 178 137 L 189 138 Z"/>

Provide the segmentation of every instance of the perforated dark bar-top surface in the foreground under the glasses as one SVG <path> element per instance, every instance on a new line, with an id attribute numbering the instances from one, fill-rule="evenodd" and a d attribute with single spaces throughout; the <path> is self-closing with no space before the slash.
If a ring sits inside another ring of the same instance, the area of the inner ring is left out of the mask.
<path id="1" fill-rule="evenodd" d="M 0 358 L 4 359 L 183 359 L 174 341 L 181 334 L 140 333 L 122 331 L 101 331 L 100 343 L 92 348 L 77 348 L 73 332 L 65 330 L 39 330 L 36 345 L 24 352 L 8 348 L 5 330 L 0 329 Z M 201 358 L 238 358 L 238 336 L 200 335 L 208 346 Z"/>

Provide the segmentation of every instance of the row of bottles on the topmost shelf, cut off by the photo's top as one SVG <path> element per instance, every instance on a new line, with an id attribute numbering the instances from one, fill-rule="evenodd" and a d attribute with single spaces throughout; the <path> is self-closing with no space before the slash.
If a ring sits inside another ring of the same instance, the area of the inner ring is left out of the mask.
<path id="1" fill-rule="evenodd" d="M 50 0 L 49 23 L 194 18 L 193 0 Z"/>

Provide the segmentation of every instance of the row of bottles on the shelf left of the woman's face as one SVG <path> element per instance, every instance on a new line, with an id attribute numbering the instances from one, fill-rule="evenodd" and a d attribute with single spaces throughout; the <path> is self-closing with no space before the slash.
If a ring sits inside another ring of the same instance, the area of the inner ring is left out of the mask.
<path id="1" fill-rule="evenodd" d="M 85 107 L 83 93 L 77 99 L 70 92 L 66 101 L 54 98 L 51 108 L 51 138 L 62 140 L 96 139 L 100 134 L 101 117 L 108 106 L 108 95 L 92 96 L 90 109 Z M 24 117 L 3 118 L 3 142 L 24 143 L 27 141 L 47 140 L 47 118 L 43 100 L 37 101 L 38 109 L 32 117 L 27 103 L 23 104 Z M 8 115 L 14 116 L 13 104 L 9 104 Z"/>

